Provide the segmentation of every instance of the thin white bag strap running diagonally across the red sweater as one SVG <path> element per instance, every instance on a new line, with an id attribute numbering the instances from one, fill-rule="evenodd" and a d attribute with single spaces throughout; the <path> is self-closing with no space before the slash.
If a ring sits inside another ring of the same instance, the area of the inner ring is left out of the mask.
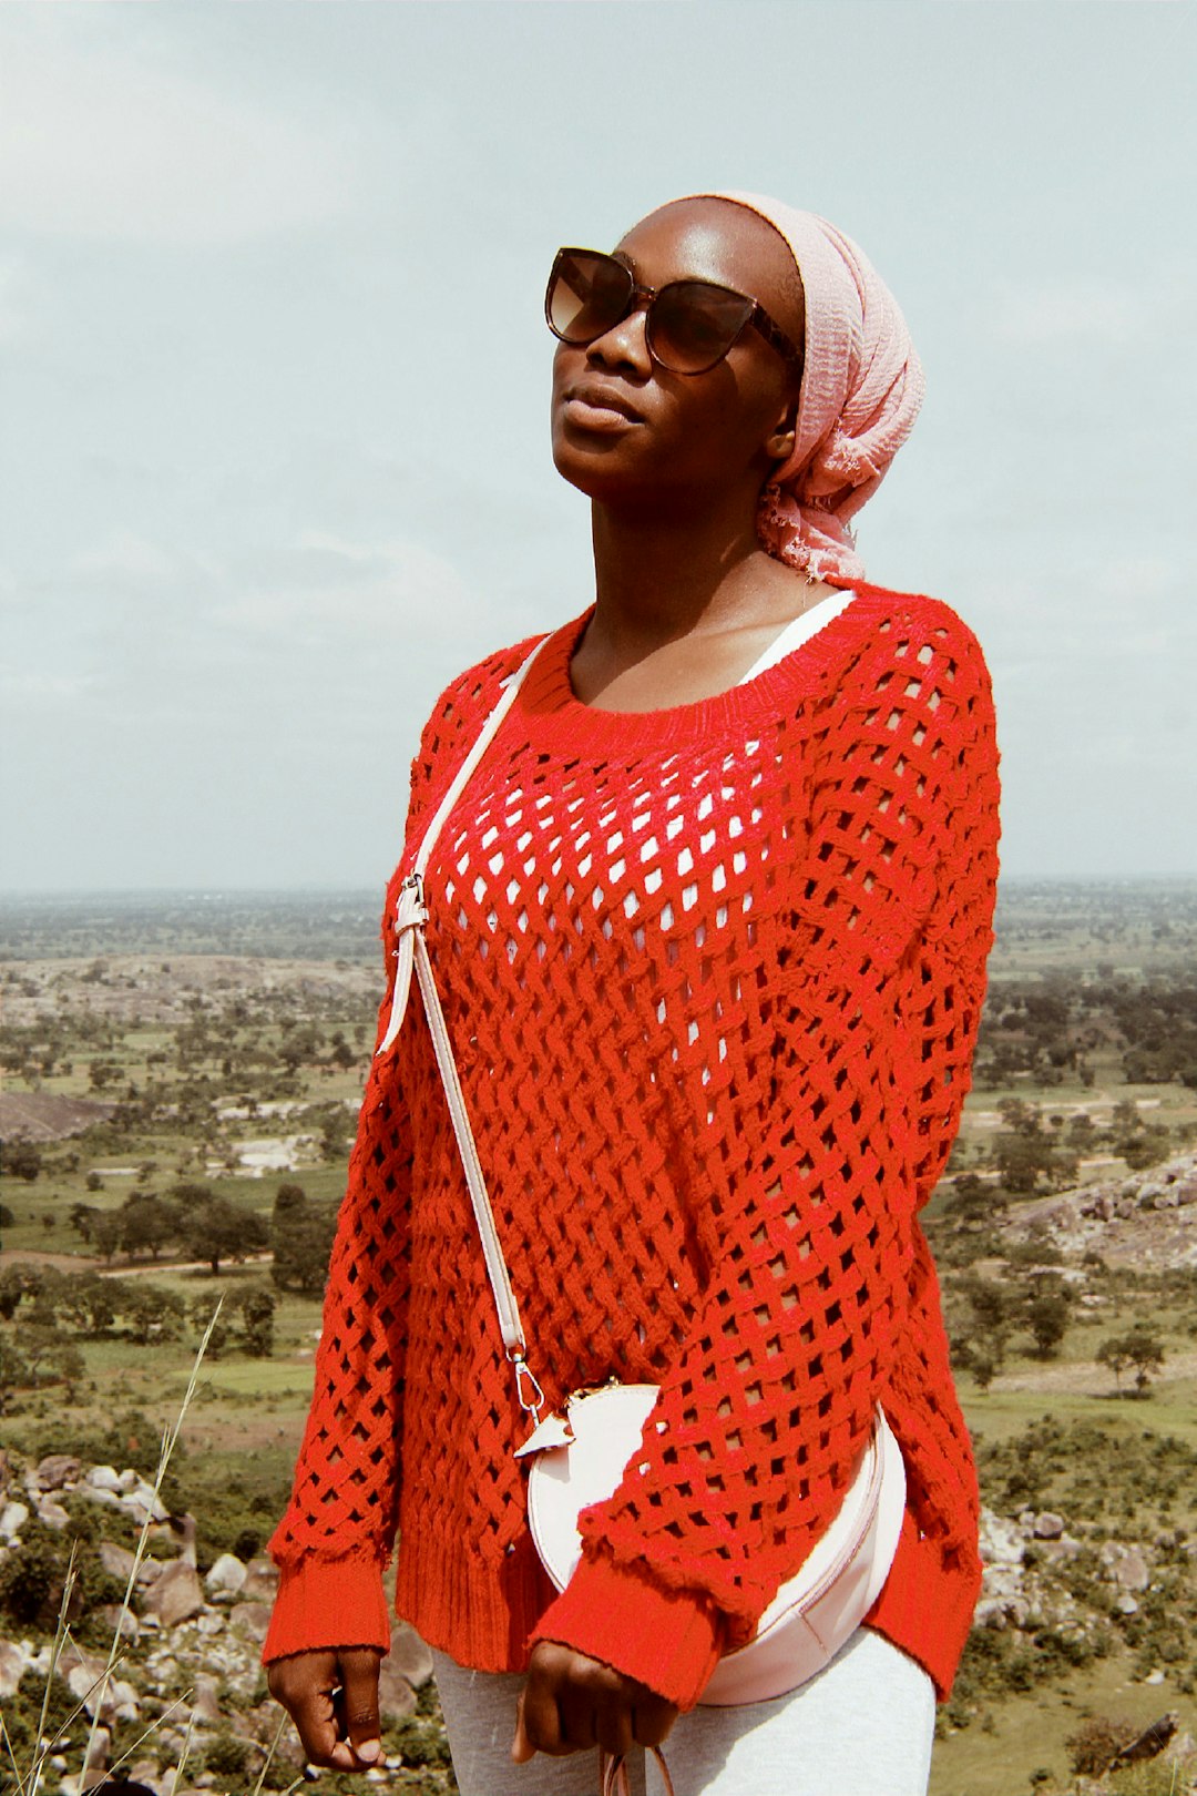
<path id="1" fill-rule="evenodd" d="M 483 1259 L 486 1261 L 486 1277 L 490 1281 L 490 1293 L 495 1302 L 495 1311 L 499 1315 L 499 1333 L 502 1334 L 502 1347 L 515 1369 L 515 1394 L 519 1397 L 520 1408 L 526 1410 L 535 1422 L 540 1421 L 540 1408 L 544 1404 L 544 1392 L 537 1383 L 529 1365 L 528 1365 L 528 1342 L 524 1338 L 524 1325 L 520 1322 L 519 1304 L 515 1302 L 515 1291 L 511 1290 L 511 1277 L 508 1273 L 506 1259 L 502 1257 L 502 1243 L 499 1241 L 499 1228 L 495 1225 L 495 1212 L 490 1202 L 490 1193 L 486 1191 L 486 1178 L 483 1175 L 483 1164 L 477 1157 L 477 1144 L 474 1140 L 474 1128 L 470 1126 L 470 1114 L 465 1106 L 465 1096 L 461 1092 L 461 1079 L 458 1078 L 458 1065 L 452 1054 L 452 1042 L 449 1038 L 449 1026 L 445 1022 L 445 1011 L 441 1009 L 440 993 L 436 990 L 436 977 L 432 973 L 432 961 L 429 957 L 427 941 L 424 938 L 424 925 L 429 920 L 427 896 L 424 889 L 424 875 L 427 873 L 429 860 L 432 858 L 432 850 L 436 841 L 449 821 L 449 814 L 465 792 L 470 778 L 474 776 L 477 763 L 490 747 L 490 744 L 499 735 L 504 717 L 515 704 L 515 697 L 528 677 L 533 661 L 547 643 L 547 636 L 542 638 L 533 652 L 528 656 L 524 665 L 506 681 L 499 702 L 494 706 L 486 717 L 474 747 L 461 762 L 461 767 L 454 774 L 449 790 L 440 801 L 432 821 L 424 832 L 424 841 L 416 851 L 413 869 L 398 889 L 398 905 L 395 911 L 395 934 L 398 936 L 398 946 L 395 948 L 395 993 L 391 999 L 391 1017 L 386 1026 L 386 1034 L 379 1043 L 379 1054 L 386 1054 L 393 1045 L 398 1031 L 402 1029 L 404 1017 L 407 1015 L 407 997 L 411 991 L 411 975 L 415 972 L 416 982 L 420 986 L 420 997 L 424 1000 L 424 1015 L 429 1024 L 429 1034 L 432 1036 L 432 1052 L 436 1054 L 436 1067 L 445 1088 L 445 1101 L 449 1103 L 449 1117 L 452 1122 L 452 1131 L 458 1142 L 458 1153 L 461 1155 L 461 1169 L 465 1173 L 465 1184 L 470 1193 L 470 1203 L 474 1207 L 474 1221 L 477 1223 L 477 1234 L 483 1243 Z"/>

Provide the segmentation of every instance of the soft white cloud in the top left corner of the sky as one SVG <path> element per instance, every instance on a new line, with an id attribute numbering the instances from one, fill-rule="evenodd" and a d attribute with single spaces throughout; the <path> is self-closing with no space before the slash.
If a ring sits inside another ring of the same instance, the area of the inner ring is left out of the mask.
<path id="1" fill-rule="evenodd" d="M 136 43 L 65 32 L 34 9 L 0 20 L 0 45 L 4 224 L 223 244 L 323 223 L 346 207 L 352 158 L 310 120 L 217 92 Z"/>

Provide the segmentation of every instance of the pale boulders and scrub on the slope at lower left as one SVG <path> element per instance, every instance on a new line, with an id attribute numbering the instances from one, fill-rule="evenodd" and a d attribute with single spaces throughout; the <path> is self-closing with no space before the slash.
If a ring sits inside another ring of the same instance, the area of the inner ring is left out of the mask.
<path id="1" fill-rule="evenodd" d="M 84 1467 L 61 1453 L 36 1466 L 0 1455 L 0 1710 L 18 1764 L 27 1764 L 34 1749 L 74 1545 L 79 1575 L 48 1704 L 61 1740 L 43 1791 L 99 1791 L 109 1769 L 108 1787 L 124 1791 L 117 1767 L 151 1796 L 255 1791 L 282 1721 L 258 1663 L 278 1577 L 269 1559 L 246 1564 L 224 1554 L 201 1573 L 194 1518 L 167 1516 L 151 1485 L 131 1469 Z M 135 1568 L 131 1541 L 147 1519 L 149 1552 L 136 1566 L 126 1607 L 120 1598 Z M 100 1695 L 113 1633 L 120 1636 L 120 1656 Z M 384 1762 L 363 1780 L 341 1780 L 339 1791 L 359 1782 L 363 1789 L 386 1783 L 427 1796 L 454 1787 L 431 1670 L 424 1643 L 398 1625 L 380 1676 Z M 100 1726 L 81 1774 L 97 1706 Z M 70 1721 L 74 1710 L 79 1715 Z M 287 1789 L 301 1765 L 287 1726 L 262 1787 Z M 2 1789 L 7 1785 L 0 1774 Z"/>

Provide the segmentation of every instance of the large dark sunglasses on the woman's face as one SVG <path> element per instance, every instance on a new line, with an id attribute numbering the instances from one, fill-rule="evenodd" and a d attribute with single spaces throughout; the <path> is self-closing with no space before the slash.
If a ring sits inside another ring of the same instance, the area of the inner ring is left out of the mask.
<path id="1" fill-rule="evenodd" d="M 549 330 L 583 348 L 614 330 L 637 305 L 646 307 L 644 334 L 653 361 L 669 374 L 705 374 L 723 361 L 752 325 L 777 350 L 795 377 L 802 352 L 765 307 L 711 280 L 671 280 L 642 287 L 632 269 L 601 250 L 558 250 L 544 296 Z"/>

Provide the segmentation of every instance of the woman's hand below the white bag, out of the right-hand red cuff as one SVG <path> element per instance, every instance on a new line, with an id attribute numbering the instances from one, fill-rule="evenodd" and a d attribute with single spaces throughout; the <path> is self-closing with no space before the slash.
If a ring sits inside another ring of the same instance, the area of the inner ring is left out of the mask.
<path id="1" fill-rule="evenodd" d="M 587 1746 L 614 1755 L 660 1746 L 677 1713 L 673 1703 L 601 1660 L 542 1640 L 520 1690 L 511 1758 L 522 1765 L 535 1753 L 560 1758 Z"/>

